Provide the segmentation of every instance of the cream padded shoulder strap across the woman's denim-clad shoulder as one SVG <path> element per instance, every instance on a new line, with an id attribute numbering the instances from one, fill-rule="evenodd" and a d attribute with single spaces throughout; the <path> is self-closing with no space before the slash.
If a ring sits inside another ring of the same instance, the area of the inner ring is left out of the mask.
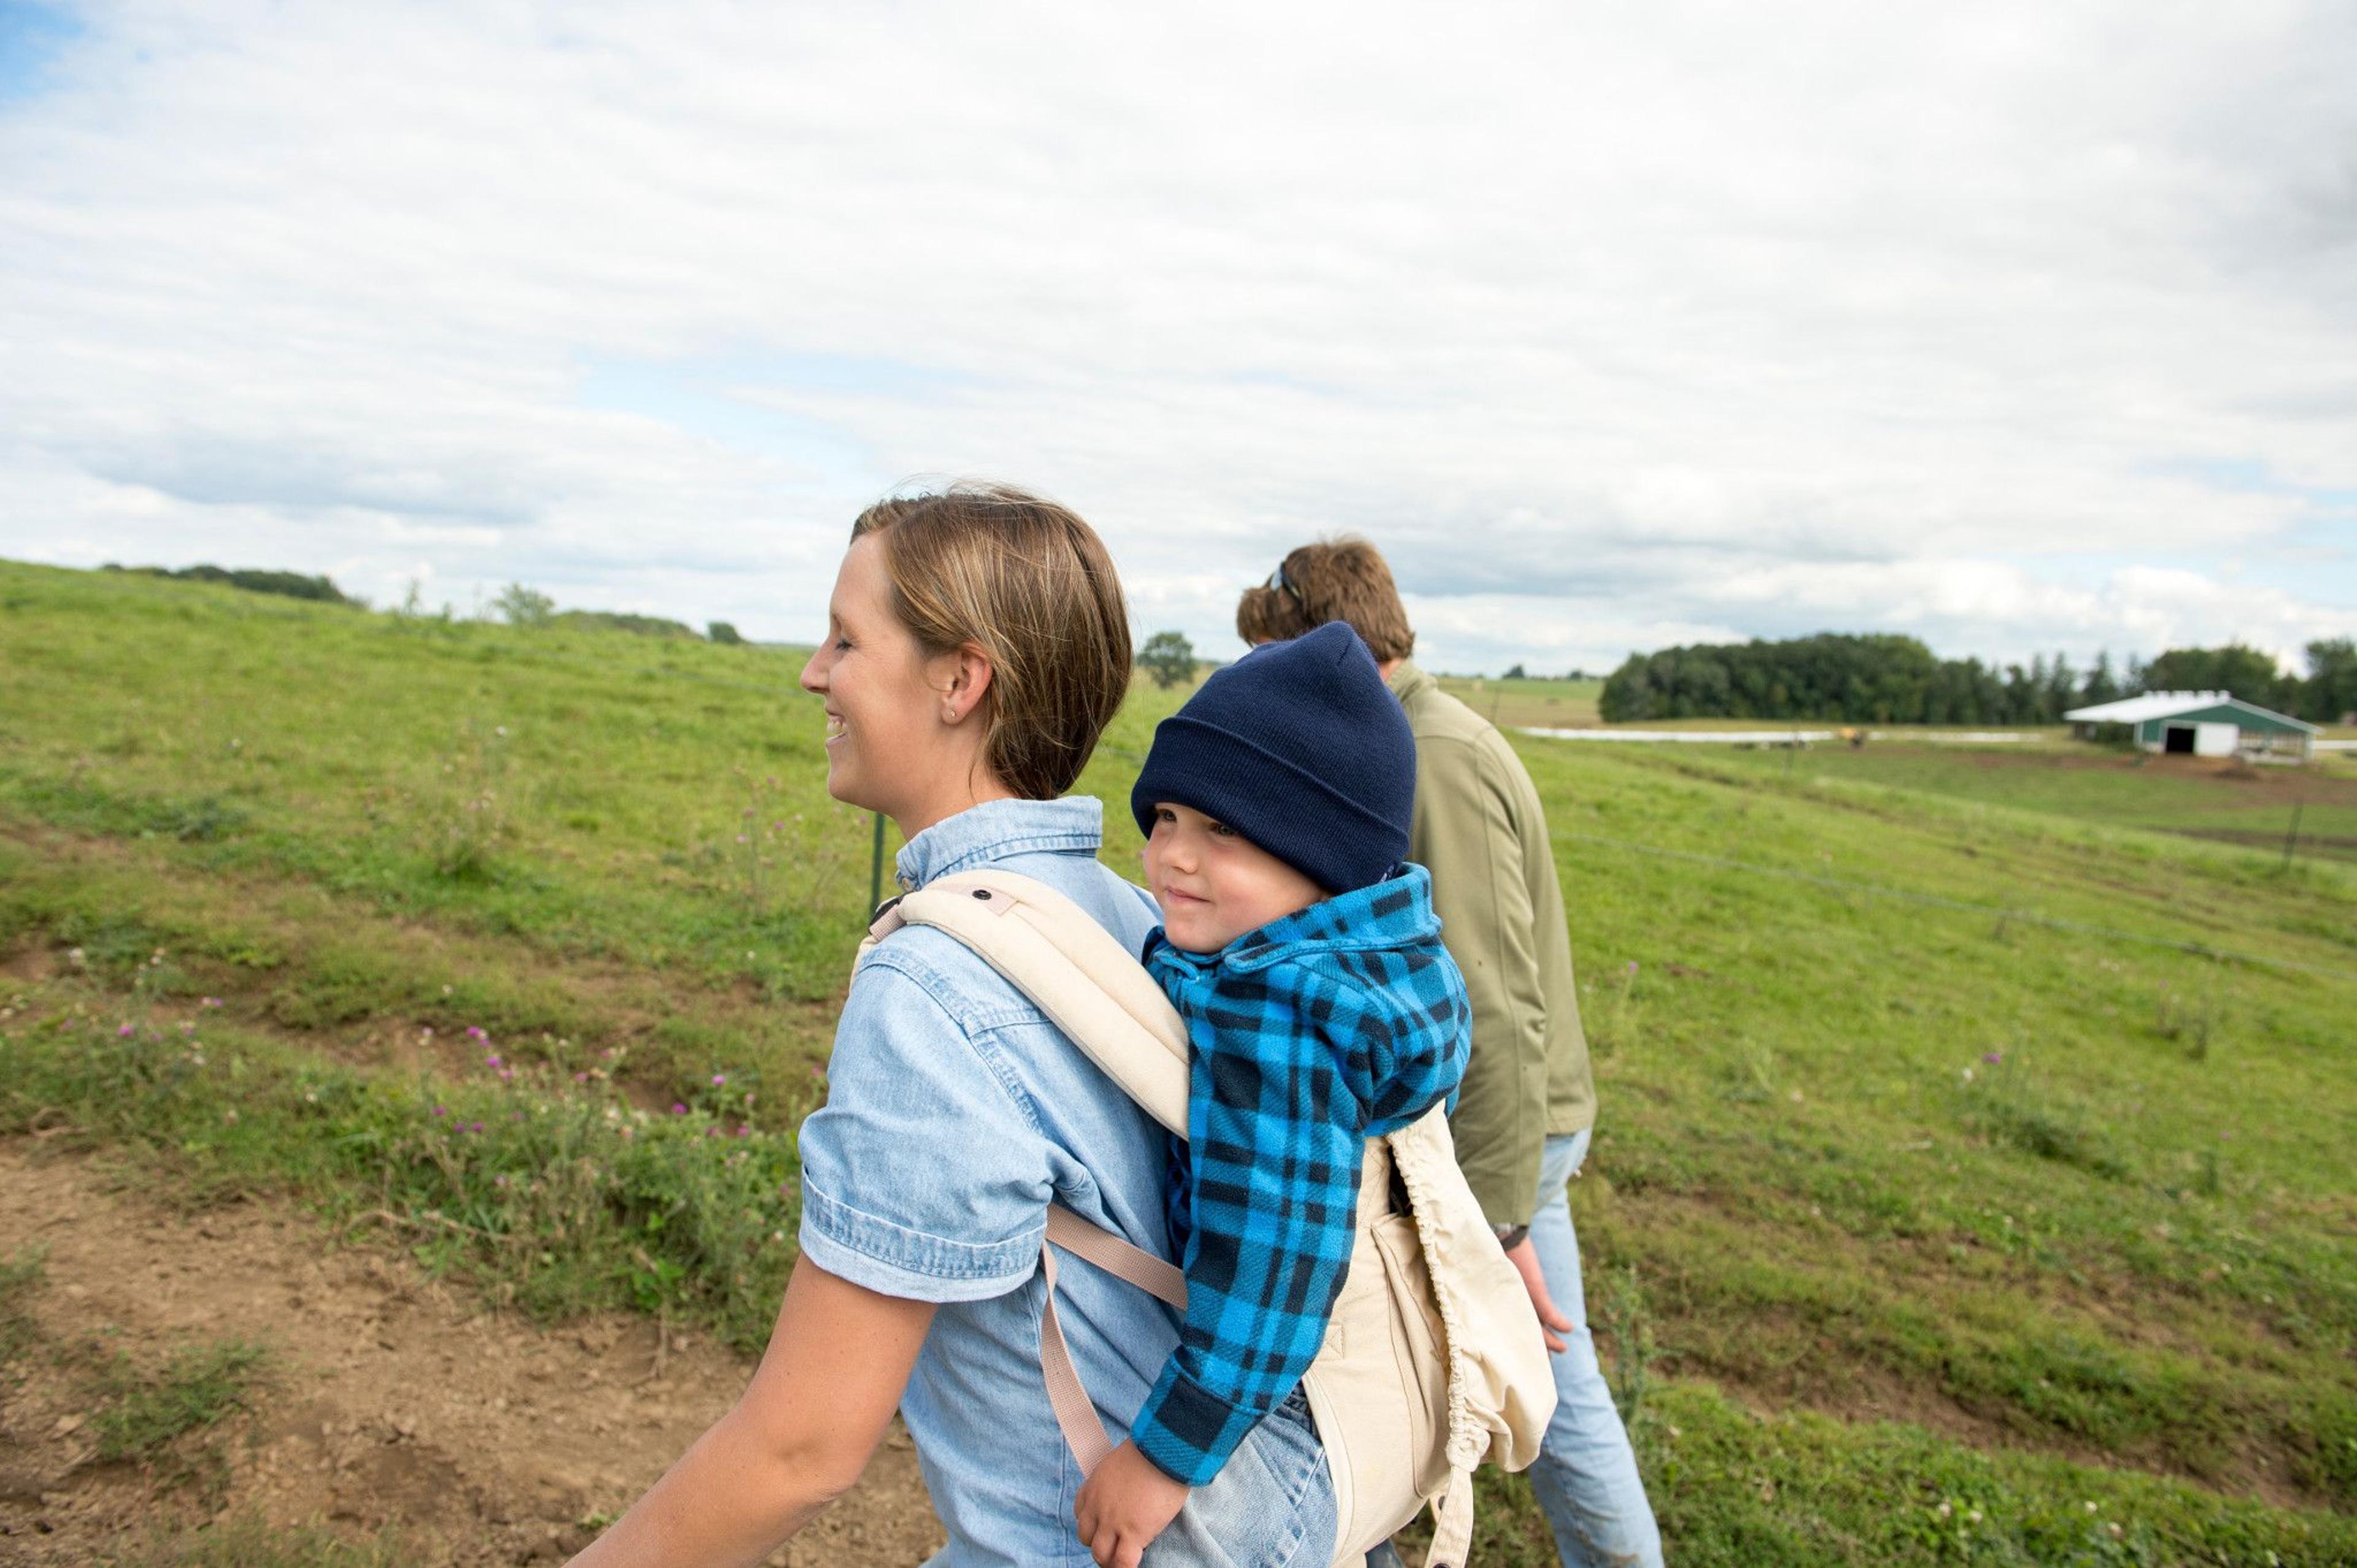
<path id="1" fill-rule="evenodd" d="M 933 925 L 973 949 L 1148 1116 L 1186 1137 L 1186 1022 L 1087 909 L 1030 876 L 959 871 L 886 904 L 860 956 L 903 925 Z"/>

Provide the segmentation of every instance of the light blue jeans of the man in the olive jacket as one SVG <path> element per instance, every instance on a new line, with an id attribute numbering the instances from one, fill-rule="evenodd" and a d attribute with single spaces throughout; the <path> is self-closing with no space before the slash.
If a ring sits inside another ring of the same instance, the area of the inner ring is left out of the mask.
<path id="1" fill-rule="evenodd" d="M 1579 1236 L 1563 1189 L 1589 1154 L 1589 1135 L 1549 1137 L 1539 1156 L 1539 1210 L 1530 1217 L 1530 1245 L 1556 1309 L 1572 1321 L 1556 1366 L 1556 1417 L 1530 1467 L 1530 1490 L 1539 1495 L 1556 1533 L 1563 1568 L 1662 1568 L 1662 1528 L 1645 1502 L 1636 1474 L 1629 1429 L 1612 1406 L 1612 1389 L 1596 1363 L 1589 1307 L 1579 1288 Z M 1367 1568 L 1398 1568 L 1388 1544 L 1367 1554 Z"/>

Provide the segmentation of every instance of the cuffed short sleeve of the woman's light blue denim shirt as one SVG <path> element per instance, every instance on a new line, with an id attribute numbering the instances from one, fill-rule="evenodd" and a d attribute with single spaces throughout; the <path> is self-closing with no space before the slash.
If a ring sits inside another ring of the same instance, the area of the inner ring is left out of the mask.
<path id="1" fill-rule="evenodd" d="M 1049 1147 L 938 986 L 886 951 L 853 977 L 827 1104 L 801 1123 L 801 1255 L 882 1295 L 978 1302 L 1039 1264 Z"/>

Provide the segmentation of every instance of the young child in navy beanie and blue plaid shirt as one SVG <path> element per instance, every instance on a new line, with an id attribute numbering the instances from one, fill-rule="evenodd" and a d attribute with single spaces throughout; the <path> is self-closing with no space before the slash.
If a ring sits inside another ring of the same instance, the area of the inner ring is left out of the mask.
<path id="1" fill-rule="evenodd" d="M 1464 977 L 1431 878 L 1402 864 L 1414 793 L 1407 716 L 1339 622 L 1216 671 L 1155 730 L 1129 808 L 1162 906 L 1146 968 L 1193 1045 L 1169 1191 L 1188 1304 L 1129 1441 L 1080 1490 L 1098 1563 L 1136 1563 L 1301 1384 L 1365 1142 L 1464 1076 Z"/>

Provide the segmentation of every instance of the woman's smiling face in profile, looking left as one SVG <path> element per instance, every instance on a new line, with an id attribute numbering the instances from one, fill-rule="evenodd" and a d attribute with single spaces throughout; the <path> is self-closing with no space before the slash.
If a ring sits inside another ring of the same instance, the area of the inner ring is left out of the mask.
<path id="1" fill-rule="evenodd" d="M 856 539 L 834 574 L 827 640 L 801 669 L 801 690 L 827 704 L 827 793 L 907 831 L 922 815 L 915 803 L 938 789 L 952 760 L 940 711 L 948 680 L 936 683 L 933 664 L 893 614 L 882 542 Z"/>

